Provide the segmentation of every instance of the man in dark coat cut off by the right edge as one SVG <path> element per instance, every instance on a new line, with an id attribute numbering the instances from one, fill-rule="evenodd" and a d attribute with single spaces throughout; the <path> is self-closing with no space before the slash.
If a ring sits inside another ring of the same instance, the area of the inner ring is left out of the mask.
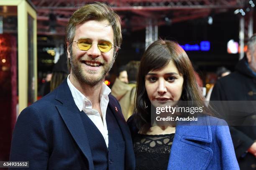
<path id="1" fill-rule="evenodd" d="M 249 39 L 246 57 L 238 62 L 235 69 L 235 72 L 216 82 L 211 101 L 256 101 L 256 35 Z M 252 109 L 250 119 L 253 119 L 256 111 L 253 106 L 248 109 Z M 241 170 L 256 170 L 255 124 L 230 126 L 230 134 Z"/>

